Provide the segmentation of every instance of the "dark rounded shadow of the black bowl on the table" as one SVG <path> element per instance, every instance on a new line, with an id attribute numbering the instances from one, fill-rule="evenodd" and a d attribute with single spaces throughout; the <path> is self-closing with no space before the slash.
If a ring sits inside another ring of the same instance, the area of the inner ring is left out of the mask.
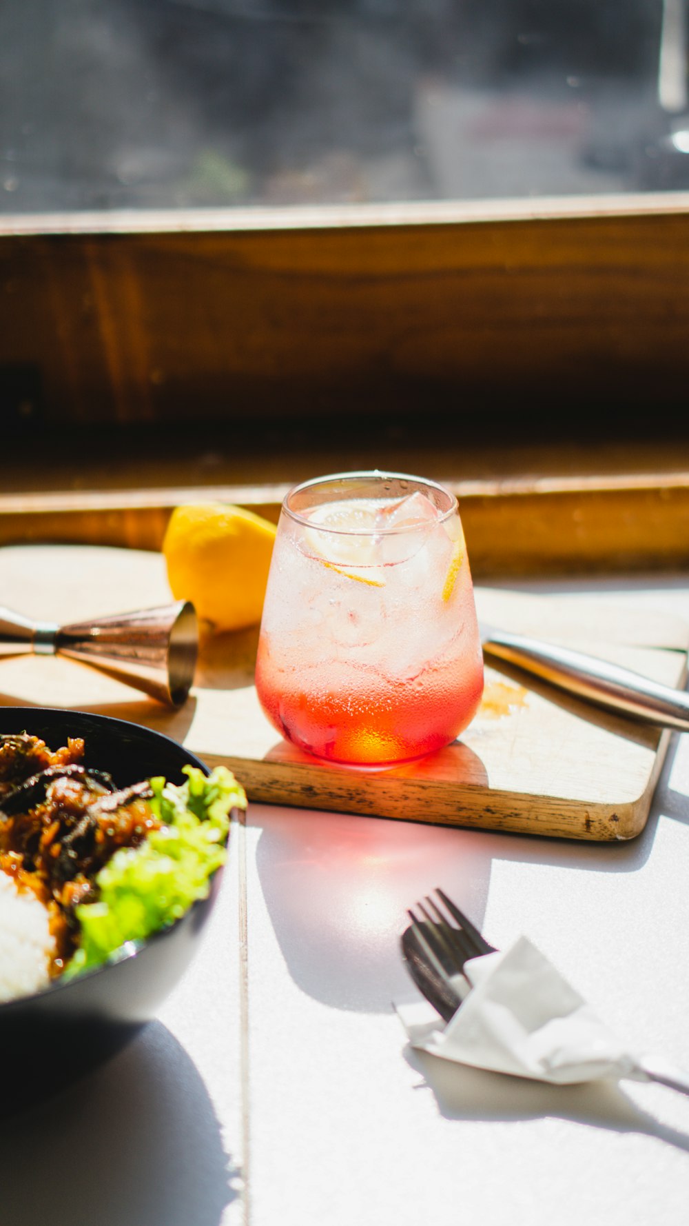
<path id="1" fill-rule="evenodd" d="M 12 1226 L 218 1226 L 235 1178 L 207 1090 L 161 1022 L 0 1122 L 0 1217 Z"/>

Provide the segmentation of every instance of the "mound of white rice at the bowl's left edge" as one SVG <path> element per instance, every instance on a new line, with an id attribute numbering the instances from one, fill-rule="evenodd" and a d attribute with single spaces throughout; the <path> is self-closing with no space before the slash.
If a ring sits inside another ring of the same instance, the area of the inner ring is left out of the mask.
<path id="1" fill-rule="evenodd" d="M 51 953 L 48 911 L 0 869 L 0 1002 L 45 987 Z"/>

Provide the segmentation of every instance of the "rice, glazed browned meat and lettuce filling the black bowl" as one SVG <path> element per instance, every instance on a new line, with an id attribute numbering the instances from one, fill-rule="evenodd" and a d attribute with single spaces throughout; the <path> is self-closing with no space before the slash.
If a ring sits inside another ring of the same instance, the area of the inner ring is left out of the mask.
<path id="1" fill-rule="evenodd" d="M 0 737 L 0 1002 L 173 924 L 207 896 L 230 810 L 246 805 L 227 767 L 118 788 L 85 752 L 81 737 L 55 750 L 26 732 Z"/>

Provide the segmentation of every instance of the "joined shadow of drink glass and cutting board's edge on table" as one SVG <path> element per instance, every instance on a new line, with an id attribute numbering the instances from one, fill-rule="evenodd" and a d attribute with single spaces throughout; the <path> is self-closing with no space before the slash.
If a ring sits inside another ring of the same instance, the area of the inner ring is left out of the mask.
<path id="1" fill-rule="evenodd" d="M 362 819 L 299 809 L 248 821 L 262 825 L 256 869 L 294 982 L 316 1000 L 359 1013 L 387 1013 L 409 981 L 398 956 L 407 907 L 440 885 L 481 928 L 493 861 L 547 864 L 563 872 L 635 873 L 651 855 L 660 814 L 689 820 L 689 798 L 672 790 L 673 737 L 645 829 L 628 842 L 547 839 Z M 682 747 L 684 749 L 684 747 Z M 568 911 L 566 890 L 561 907 Z M 514 917 L 514 935 L 523 916 Z M 508 937 L 510 933 L 508 933 Z M 487 933 L 499 940 L 499 933 Z M 505 934 L 503 933 L 503 939 Z"/>

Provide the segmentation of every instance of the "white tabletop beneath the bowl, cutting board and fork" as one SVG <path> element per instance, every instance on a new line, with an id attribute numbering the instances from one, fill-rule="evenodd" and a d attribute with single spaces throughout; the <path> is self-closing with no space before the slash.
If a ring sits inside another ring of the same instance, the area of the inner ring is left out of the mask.
<path id="1" fill-rule="evenodd" d="M 689 618 L 689 580 L 642 598 Z M 391 1002 L 405 908 L 441 885 L 689 1069 L 689 736 L 628 843 L 259 804 L 232 840 L 159 1019 L 0 1123 L 1 1226 L 685 1226 L 689 1098 L 422 1058 Z"/>

